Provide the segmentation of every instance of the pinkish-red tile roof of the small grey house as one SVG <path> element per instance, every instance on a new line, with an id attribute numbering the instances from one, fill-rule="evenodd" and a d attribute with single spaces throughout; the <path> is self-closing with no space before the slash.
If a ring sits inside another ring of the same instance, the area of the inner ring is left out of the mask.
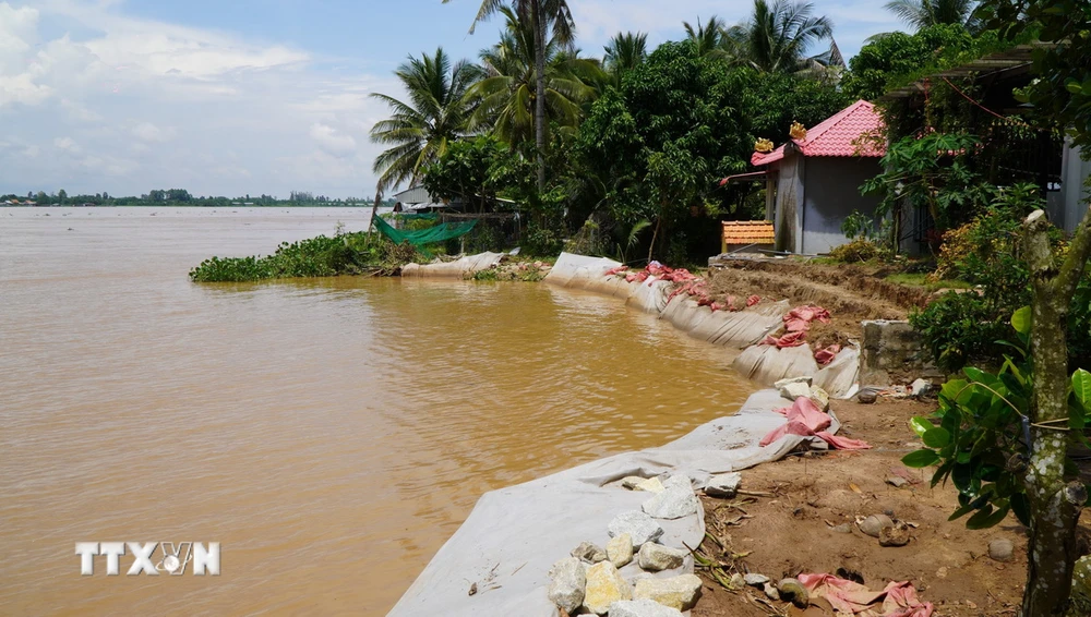
<path id="1" fill-rule="evenodd" d="M 867 136 L 883 128 L 883 118 L 875 106 L 858 100 L 807 130 L 804 140 L 792 140 L 793 147 L 803 156 L 867 156 L 886 154 L 885 143 L 875 143 Z M 863 137 L 863 138 L 861 138 Z M 784 158 L 784 144 L 768 154 L 754 153 L 753 165 L 768 165 Z"/>

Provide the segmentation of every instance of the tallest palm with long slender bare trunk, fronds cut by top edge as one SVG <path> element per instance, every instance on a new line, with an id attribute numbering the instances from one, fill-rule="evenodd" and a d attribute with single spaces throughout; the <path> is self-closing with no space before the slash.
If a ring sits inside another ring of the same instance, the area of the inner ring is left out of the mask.
<path id="1" fill-rule="evenodd" d="M 443 0 L 444 3 L 451 0 Z M 505 5 L 511 5 L 519 20 L 531 25 L 535 33 L 535 144 L 538 146 L 538 190 L 546 190 L 546 35 L 552 29 L 559 44 L 571 48 L 576 24 L 566 0 L 481 0 L 481 8 L 470 25 L 470 34 L 479 22 L 489 19 Z"/>

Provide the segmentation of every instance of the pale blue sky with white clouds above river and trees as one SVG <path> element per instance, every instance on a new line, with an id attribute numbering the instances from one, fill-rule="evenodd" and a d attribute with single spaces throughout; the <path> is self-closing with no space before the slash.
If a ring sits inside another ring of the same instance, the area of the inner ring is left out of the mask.
<path id="1" fill-rule="evenodd" d="M 899 28 L 874 0 L 816 0 L 851 57 Z M 373 193 L 368 131 L 392 71 L 443 46 L 475 58 L 477 0 L 0 0 L 0 194 Z M 578 45 L 649 43 L 682 21 L 742 21 L 752 0 L 570 0 Z"/>

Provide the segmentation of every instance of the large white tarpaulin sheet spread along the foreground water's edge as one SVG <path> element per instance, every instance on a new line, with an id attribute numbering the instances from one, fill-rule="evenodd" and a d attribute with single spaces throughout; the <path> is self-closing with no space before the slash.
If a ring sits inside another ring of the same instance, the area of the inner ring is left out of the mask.
<path id="1" fill-rule="evenodd" d="M 762 448 L 766 434 L 784 423 L 774 410 L 790 404 L 774 390 L 751 396 L 734 415 L 705 424 L 661 448 L 626 452 L 532 482 L 487 493 L 469 518 L 443 545 L 389 615 L 520 615 L 553 617 L 547 597 L 550 567 L 588 541 L 606 546 L 607 527 L 618 515 L 639 510 L 650 493 L 632 492 L 616 481 L 684 473 L 703 487 L 710 474 L 777 460 L 807 439 L 794 435 Z M 830 432 L 838 428 L 837 421 Z M 667 546 L 696 547 L 705 533 L 703 512 L 657 522 Z M 692 571 L 691 560 L 682 570 Z M 652 576 L 631 564 L 622 574 Z M 469 594 L 470 585 L 477 593 Z"/>

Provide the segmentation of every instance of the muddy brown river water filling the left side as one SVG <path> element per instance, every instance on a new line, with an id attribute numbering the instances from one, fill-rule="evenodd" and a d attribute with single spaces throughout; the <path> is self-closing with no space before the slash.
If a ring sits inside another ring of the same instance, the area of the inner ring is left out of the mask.
<path id="1" fill-rule="evenodd" d="M 483 492 L 752 390 L 615 299 L 187 277 L 368 216 L 0 208 L 0 614 L 382 615 Z M 219 542 L 221 574 L 81 576 L 111 541 Z"/>

